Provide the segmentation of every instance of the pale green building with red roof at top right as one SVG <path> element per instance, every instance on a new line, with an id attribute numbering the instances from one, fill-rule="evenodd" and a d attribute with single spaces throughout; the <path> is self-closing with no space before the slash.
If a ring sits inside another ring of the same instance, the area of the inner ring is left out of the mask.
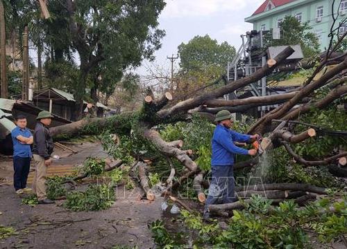
<path id="1" fill-rule="evenodd" d="M 347 17 L 347 0 L 335 0 L 334 13 L 339 21 Z M 332 26 L 332 0 L 266 0 L 255 10 L 251 17 L 245 19 L 253 24 L 254 30 L 278 30 L 280 22 L 285 16 L 291 15 L 298 21 L 308 22 L 312 31 L 316 33 L 325 50 L 330 42 L 330 27 Z M 339 28 L 339 34 L 347 32 L 347 26 Z"/>

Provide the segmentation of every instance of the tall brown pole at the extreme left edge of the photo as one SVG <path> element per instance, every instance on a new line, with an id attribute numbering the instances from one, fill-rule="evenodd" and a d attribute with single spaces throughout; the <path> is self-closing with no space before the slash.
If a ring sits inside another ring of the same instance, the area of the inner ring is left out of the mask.
<path id="1" fill-rule="evenodd" d="M 8 84 L 6 75 L 6 27 L 5 10 L 3 2 L 0 0 L 0 77 L 1 77 L 1 98 L 8 98 Z"/>

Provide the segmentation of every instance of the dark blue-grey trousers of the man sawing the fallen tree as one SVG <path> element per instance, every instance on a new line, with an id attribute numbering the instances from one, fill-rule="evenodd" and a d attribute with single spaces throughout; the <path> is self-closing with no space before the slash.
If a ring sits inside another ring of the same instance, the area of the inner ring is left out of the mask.
<path id="1" fill-rule="evenodd" d="M 233 165 L 212 166 L 212 180 L 210 181 L 204 212 L 208 212 L 209 205 L 233 203 L 236 200 Z"/>

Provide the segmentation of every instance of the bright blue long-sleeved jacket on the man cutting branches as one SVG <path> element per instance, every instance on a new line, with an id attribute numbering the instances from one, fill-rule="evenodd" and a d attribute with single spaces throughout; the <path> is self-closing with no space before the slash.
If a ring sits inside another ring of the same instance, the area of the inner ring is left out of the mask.
<path id="1" fill-rule="evenodd" d="M 234 142 L 248 142 L 250 135 L 237 133 L 221 124 L 217 124 L 212 137 L 212 166 L 234 164 L 234 154 L 248 155 L 248 150 L 237 147 Z"/>

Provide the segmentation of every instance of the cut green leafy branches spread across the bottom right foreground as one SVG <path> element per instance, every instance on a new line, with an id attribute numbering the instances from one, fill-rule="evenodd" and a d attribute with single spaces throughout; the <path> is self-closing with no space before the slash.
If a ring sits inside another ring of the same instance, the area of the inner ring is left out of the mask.
<path id="1" fill-rule="evenodd" d="M 335 193 L 336 194 L 336 193 Z M 201 216 L 182 211 L 183 224 L 194 234 L 193 248 L 311 248 L 310 241 L 330 243 L 347 232 L 347 196 L 334 196 L 299 208 L 294 201 L 277 207 L 260 196 L 252 196 L 242 211 L 234 210 L 226 230 L 217 221 L 203 223 Z M 175 234 L 168 234 L 160 221 L 152 225 L 153 237 L 162 248 L 187 248 L 175 245 Z M 153 229 L 155 228 L 155 229 Z M 159 231 L 158 231 L 159 230 Z M 309 236 L 310 234 L 310 236 Z M 187 238 L 186 238 L 187 239 Z"/>

